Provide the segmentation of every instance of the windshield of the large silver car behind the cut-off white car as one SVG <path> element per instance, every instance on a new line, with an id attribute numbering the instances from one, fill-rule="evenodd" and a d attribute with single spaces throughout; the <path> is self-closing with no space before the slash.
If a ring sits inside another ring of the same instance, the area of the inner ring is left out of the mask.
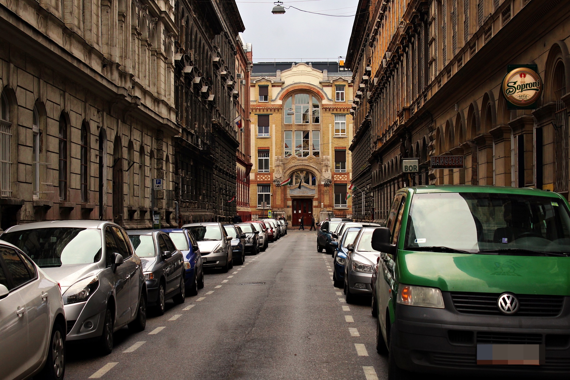
<path id="1" fill-rule="evenodd" d="M 101 260 L 101 232 L 95 228 L 35 228 L 4 233 L 1 238 L 23 250 L 40 268 Z"/>

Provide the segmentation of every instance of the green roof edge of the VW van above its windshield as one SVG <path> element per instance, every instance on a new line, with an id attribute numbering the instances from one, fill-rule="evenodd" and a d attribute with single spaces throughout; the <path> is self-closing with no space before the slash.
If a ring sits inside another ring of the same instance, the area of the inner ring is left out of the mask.
<path id="1" fill-rule="evenodd" d="M 421 185 L 414 186 L 415 193 L 496 193 L 496 194 L 518 194 L 518 195 L 538 195 L 544 197 L 560 198 L 558 193 L 534 188 L 519 188 L 510 186 L 491 185 Z"/>

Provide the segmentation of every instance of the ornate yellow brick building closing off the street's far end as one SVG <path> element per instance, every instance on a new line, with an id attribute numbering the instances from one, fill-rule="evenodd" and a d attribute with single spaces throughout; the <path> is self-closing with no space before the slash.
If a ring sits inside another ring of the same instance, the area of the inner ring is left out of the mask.
<path id="1" fill-rule="evenodd" d="M 352 73 L 339 64 L 255 63 L 251 210 L 292 225 L 351 213 Z M 351 99 L 351 102 L 349 102 Z"/>

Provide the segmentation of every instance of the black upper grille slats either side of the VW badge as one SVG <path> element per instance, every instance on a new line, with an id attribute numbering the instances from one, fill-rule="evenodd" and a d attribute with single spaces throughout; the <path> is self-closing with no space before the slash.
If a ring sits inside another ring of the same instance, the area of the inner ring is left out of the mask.
<path id="1" fill-rule="evenodd" d="M 451 292 L 453 306 L 459 313 L 504 315 L 497 308 L 499 293 Z M 556 317 L 562 311 L 564 296 L 516 294 L 519 311 L 515 316 Z"/>

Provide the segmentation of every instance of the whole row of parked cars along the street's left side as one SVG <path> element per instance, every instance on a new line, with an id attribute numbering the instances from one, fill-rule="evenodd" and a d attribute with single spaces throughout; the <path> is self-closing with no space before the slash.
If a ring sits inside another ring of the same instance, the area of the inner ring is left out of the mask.
<path id="1" fill-rule="evenodd" d="M 286 233 L 278 220 L 125 231 L 108 221 L 17 225 L 0 236 L 0 379 L 63 379 L 66 341 L 103 354 L 113 333 L 146 327 L 147 308 L 181 304 L 204 270 L 227 272 Z"/>

